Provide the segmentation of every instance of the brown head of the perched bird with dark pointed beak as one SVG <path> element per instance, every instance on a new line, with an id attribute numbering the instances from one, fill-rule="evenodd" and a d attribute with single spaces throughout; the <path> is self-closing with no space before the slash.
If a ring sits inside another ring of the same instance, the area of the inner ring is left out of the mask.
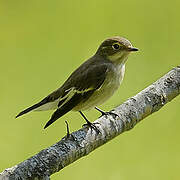
<path id="1" fill-rule="evenodd" d="M 113 63 L 124 63 L 130 52 L 138 51 L 129 40 L 115 36 L 108 38 L 99 46 L 96 54 L 108 58 Z"/>

